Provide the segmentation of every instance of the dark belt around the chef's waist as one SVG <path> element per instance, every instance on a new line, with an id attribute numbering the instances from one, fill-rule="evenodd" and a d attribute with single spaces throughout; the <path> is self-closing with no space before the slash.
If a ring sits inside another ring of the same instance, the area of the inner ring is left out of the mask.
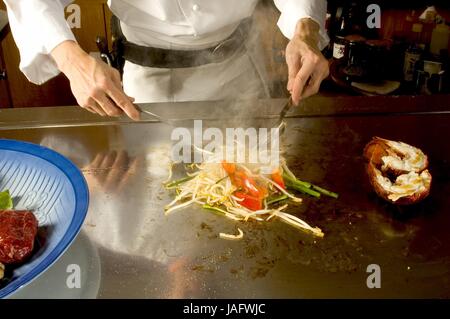
<path id="1" fill-rule="evenodd" d="M 122 60 L 122 66 L 123 60 L 127 60 L 146 67 L 175 69 L 219 63 L 243 50 L 251 19 L 241 22 L 231 36 L 215 47 L 202 50 L 168 50 L 141 46 L 127 41 L 117 17 L 113 16 L 111 24 L 116 59 Z"/>

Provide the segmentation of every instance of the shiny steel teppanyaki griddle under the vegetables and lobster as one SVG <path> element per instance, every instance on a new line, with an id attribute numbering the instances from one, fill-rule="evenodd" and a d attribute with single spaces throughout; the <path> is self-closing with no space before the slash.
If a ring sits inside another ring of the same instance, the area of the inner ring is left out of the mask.
<path id="1" fill-rule="evenodd" d="M 302 110 L 288 114 L 283 147 L 290 168 L 299 178 L 340 194 L 338 200 L 305 197 L 302 205 L 288 210 L 322 228 L 323 239 L 276 220 L 236 224 L 198 207 L 164 216 L 172 195 L 161 182 L 173 128 L 151 118 L 142 123 L 102 119 L 77 108 L 2 110 L 0 137 L 50 146 L 83 170 L 91 205 L 74 247 L 89 249 L 82 260 L 75 248 L 64 258 L 77 256 L 89 270 L 86 282 L 97 290 L 85 291 L 86 296 L 448 298 L 447 101 L 311 98 Z M 270 122 L 284 102 L 260 101 L 247 110 Z M 153 111 L 183 123 L 204 118 L 205 126 L 225 126 L 227 114 L 233 114 L 234 123 L 238 117 L 239 125 L 249 126 L 245 114 L 232 111 L 243 107 L 233 106 L 236 103 L 155 104 Z M 433 175 L 428 199 L 396 207 L 374 194 L 362 157 L 373 136 L 404 141 L 428 154 Z M 243 240 L 218 238 L 219 232 L 232 233 L 237 226 L 244 231 Z M 373 264 L 381 269 L 379 289 L 367 287 L 367 268 Z M 47 275 L 58 276 L 58 267 L 65 265 L 55 264 Z M 20 293 L 32 294 L 39 284 Z"/>

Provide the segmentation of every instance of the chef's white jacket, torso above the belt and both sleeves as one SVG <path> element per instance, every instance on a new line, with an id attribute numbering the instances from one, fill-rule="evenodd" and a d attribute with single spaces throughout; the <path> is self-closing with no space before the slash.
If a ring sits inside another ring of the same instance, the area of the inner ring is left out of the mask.
<path id="1" fill-rule="evenodd" d="M 126 36 L 141 45 L 199 48 L 225 39 L 239 22 L 251 16 L 258 0 L 109 0 L 108 5 L 126 24 Z M 59 70 L 50 52 L 75 37 L 64 17 L 72 0 L 4 0 L 20 69 L 33 83 L 42 84 Z M 309 17 L 320 25 L 319 47 L 325 32 L 326 0 L 274 0 L 281 11 L 278 26 L 292 38 L 296 23 Z M 82 13 L 81 13 L 82 14 Z"/>

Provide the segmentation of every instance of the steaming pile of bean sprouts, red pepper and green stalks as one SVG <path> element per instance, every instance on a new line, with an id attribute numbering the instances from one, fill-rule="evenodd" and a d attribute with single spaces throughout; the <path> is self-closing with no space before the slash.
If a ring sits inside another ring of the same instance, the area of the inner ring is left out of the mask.
<path id="1" fill-rule="evenodd" d="M 176 192 L 175 199 L 166 206 L 166 214 L 190 205 L 201 205 L 235 221 L 264 222 L 278 218 L 302 231 L 323 237 L 320 228 L 286 213 L 288 202 L 301 202 L 297 193 L 315 198 L 322 195 L 338 198 L 334 192 L 297 179 L 284 162 L 270 174 L 263 174 L 258 165 L 226 161 L 194 164 L 190 168 L 187 176 L 165 184 L 167 189 Z M 237 235 L 221 233 L 220 237 L 240 239 L 243 233 L 238 231 Z"/>

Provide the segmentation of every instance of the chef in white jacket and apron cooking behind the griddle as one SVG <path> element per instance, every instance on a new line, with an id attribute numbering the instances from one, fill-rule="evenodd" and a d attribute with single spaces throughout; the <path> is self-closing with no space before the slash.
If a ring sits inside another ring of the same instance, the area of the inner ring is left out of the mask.
<path id="1" fill-rule="evenodd" d="M 252 15 L 257 1 L 109 0 L 108 5 L 130 43 L 196 51 L 220 47 L 241 21 Z M 139 119 L 133 102 L 218 100 L 234 96 L 237 89 L 252 96 L 251 92 L 262 86 L 261 72 L 245 53 L 217 63 L 175 69 L 125 61 L 121 79 L 116 69 L 77 44 L 64 17 L 64 7 L 72 1 L 4 2 L 26 77 L 42 84 L 63 72 L 79 105 L 100 115 L 124 112 Z M 326 1 L 275 0 L 275 4 L 281 12 L 278 27 L 290 39 L 286 48 L 287 89 L 298 103 L 318 92 L 328 76 L 328 63 L 320 52 L 328 41 Z"/>

